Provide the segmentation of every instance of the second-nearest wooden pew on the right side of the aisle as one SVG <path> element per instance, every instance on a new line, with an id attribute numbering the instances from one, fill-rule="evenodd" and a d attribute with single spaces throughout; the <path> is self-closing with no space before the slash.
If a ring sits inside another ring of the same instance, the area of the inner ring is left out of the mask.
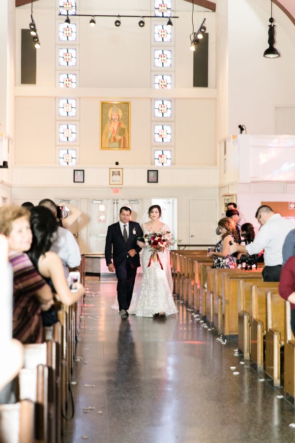
<path id="1" fill-rule="evenodd" d="M 281 385 L 281 348 L 285 337 L 285 301 L 280 294 L 266 293 L 266 374 L 274 386 Z"/>

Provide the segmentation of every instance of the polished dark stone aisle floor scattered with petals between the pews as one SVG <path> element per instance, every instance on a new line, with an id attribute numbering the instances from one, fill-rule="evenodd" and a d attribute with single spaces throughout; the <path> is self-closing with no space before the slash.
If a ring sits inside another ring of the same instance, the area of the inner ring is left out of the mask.
<path id="1" fill-rule="evenodd" d="M 63 443 L 295 442 L 294 407 L 240 364 L 235 341 L 222 345 L 179 302 L 175 316 L 121 320 L 115 292 L 87 278 Z"/>

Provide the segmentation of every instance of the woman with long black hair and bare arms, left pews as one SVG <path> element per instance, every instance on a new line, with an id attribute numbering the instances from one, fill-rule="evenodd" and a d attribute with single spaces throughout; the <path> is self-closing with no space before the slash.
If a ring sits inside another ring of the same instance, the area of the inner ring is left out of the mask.
<path id="1" fill-rule="evenodd" d="M 84 287 L 81 283 L 76 282 L 72 285 L 72 289 L 76 291 L 71 292 L 59 256 L 50 251 L 58 228 L 55 216 L 49 209 L 36 206 L 31 212 L 30 227 L 33 238 L 28 255 L 32 263 L 52 287 L 57 300 L 66 306 L 71 306 L 82 297 Z M 43 316 L 45 320 L 43 324 L 46 323 L 47 326 L 50 326 L 49 323 L 53 324 L 58 321 L 57 316 L 55 318 L 54 308 L 51 310 L 51 315 L 51 317 L 49 315 Z"/>

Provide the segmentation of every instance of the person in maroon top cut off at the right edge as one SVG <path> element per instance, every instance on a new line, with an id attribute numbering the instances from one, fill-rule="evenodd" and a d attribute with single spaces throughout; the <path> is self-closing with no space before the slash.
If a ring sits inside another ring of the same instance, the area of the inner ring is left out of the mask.
<path id="1" fill-rule="evenodd" d="M 291 303 L 291 328 L 295 335 L 295 255 L 290 257 L 282 268 L 279 293 Z"/>

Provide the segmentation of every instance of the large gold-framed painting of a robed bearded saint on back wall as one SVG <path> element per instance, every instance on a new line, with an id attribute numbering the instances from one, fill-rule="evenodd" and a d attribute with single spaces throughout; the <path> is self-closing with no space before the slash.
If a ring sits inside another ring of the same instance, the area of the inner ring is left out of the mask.
<path id="1" fill-rule="evenodd" d="M 130 149 L 130 101 L 100 102 L 100 149 Z"/>

